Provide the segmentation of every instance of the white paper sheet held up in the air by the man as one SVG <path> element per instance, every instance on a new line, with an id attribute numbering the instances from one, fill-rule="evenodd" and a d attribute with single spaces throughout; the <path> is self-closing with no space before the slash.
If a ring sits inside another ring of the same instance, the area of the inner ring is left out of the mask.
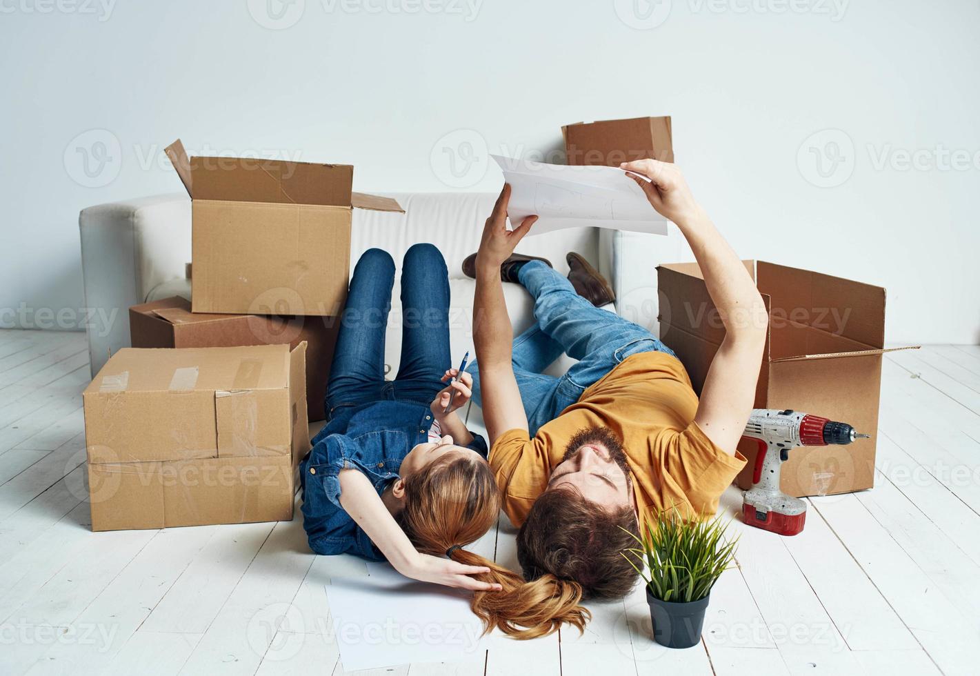
<path id="1" fill-rule="evenodd" d="M 528 236 L 566 227 L 667 233 L 640 186 L 615 167 L 567 167 L 493 155 L 511 184 L 508 216 L 517 225 L 537 215 Z"/>

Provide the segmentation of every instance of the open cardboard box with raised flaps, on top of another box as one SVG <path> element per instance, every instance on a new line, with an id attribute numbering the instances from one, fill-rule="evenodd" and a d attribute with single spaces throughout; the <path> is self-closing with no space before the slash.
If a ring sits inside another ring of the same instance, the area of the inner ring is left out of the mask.
<path id="1" fill-rule="evenodd" d="M 402 212 L 352 192 L 348 165 L 167 155 L 191 197 L 195 313 L 340 314 L 352 210 Z"/>

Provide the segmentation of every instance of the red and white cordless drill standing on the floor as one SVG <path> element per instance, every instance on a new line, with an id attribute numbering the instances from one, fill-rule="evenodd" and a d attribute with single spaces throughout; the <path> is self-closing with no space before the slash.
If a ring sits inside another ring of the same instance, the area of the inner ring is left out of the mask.
<path id="1" fill-rule="evenodd" d="M 798 446 L 850 444 L 869 439 L 845 422 L 799 410 L 754 409 L 743 437 L 759 444 L 753 487 L 745 492 L 742 514 L 751 526 L 780 535 L 796 535 L 803 530 L 807 503 L 786 495 L 779 488 L 779 469 L 789 459 L 790 449 Z"/>

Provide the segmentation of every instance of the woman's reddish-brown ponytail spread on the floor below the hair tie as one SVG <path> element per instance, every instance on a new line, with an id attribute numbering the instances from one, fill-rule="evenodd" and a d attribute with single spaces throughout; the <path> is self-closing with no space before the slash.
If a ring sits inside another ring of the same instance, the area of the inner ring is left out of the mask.
<path id="1" fill-rule="evenodd" d="M 577 583 L 553 575 L 525 582 L 514 571 L 483 556 L 463 549 L 454 549 L 451 554 L 460 563 L 489 567 L 489 573 L 475 577 L 503 587 L 500 592 L 476 592 L 469 603 L 487 631 L 497 628 L 515 639 L 536 639 L 558 631 L 563 624 L 570 624 L 579 633 L 585 630 L 591 614 L 579 605 L 582 588 Z"/>

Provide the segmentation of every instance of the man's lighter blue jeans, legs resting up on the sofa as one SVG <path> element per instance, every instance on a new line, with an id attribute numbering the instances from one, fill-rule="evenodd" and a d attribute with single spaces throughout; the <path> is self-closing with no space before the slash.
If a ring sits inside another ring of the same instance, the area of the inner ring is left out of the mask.
<path id="1" fill-rule="evenodd" d="M 540 261 L 520 268 L 517 278 L 534 297 L 535 323 L 514 339 L 514 374 L 531 436 L 578 401 L 587 387 L 630 355 L 665 352 L 667 346 L 639 324 L 594 307 L 560 273 Z M 541 371 L 562 353 L 577 363 L 560 378 Z M 476 364 L 473 399 L 482 402 Z"/>

